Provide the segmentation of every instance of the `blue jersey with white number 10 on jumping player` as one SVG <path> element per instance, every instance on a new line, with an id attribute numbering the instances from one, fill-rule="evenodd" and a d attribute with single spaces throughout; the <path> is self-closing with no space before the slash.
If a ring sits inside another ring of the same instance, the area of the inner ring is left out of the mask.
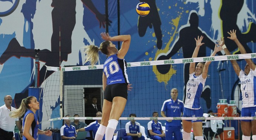
<path id="1" fill-rule="evenodd" d="M 129 83 L 126 73 L 127 63 L 116 55 L 109 56 L 103 66 L 107 78 L 106 84 Z"/>

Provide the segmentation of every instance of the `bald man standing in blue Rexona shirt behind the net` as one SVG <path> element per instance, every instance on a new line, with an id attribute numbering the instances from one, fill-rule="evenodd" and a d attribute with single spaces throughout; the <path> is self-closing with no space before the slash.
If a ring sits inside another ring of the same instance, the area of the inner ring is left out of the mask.
<path id="1" fill-rule="evenodd" d="M 184 111 L 183 101 L 177 99 L 178 90 L 177 88 L 171 89 L 171 99 L 164 101 L 161 109 L 162 117 L 181 117 Z M 166 112 L 166 115 L 165 113 Z M 166 120 L 165 124 L 165 140 L 181 140 L 181 120 Z"/>

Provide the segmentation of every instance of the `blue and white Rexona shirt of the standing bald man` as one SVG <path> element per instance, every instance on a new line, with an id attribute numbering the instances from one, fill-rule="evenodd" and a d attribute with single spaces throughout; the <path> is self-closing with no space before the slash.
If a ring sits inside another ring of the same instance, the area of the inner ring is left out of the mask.
<path id="1" fill-rule="evenodd" d="M 167 117 L 181 117 L 184 111 L 183 101 L 177 99 L 174 102 L 173 99 L 168 99 L 164 101 L 161 111 L 164 111 Z M 181 126 L 181 120 L 166 121 L 165 126 Z"/>

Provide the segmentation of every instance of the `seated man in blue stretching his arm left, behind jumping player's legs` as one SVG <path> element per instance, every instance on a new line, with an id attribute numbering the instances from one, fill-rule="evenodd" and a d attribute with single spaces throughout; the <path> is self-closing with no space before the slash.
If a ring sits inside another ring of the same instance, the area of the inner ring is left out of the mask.
<path id="1" fill-rule="evenodd" d="M 97 112 L 96 113 L 96 117 L 102 117 L 102 113 L 101 112 Z M 90 123 L 88 126 L 76 130 L 76 132 L 92 131 L 94 136 L 95 136 L 100 124 L 101 124 L 101 120 L 96 120 L 96 121 Z M 102 140 L 105 140 L 105 135 L 103 136 Z"/>

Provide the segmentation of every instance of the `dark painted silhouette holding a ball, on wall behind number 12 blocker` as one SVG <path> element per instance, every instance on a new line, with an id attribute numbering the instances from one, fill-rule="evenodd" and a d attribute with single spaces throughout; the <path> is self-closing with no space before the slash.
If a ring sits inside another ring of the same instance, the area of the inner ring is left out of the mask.
<path id="1" fill-rule="evenodd" d="M 200 47 L 197 57 L 206 56 L 206 47 L 214 50 L 215 43 L 206 34 L 204 34 L 200 28 L 198 28 L 198 20 L 199 19 L 198 19 L 197 13 L 192 12 L 189 18 L 190 24 L 187 24 L 181 27 L 177 42 L 175 42 L 174 46 L 167 52 L 167 55 L 161 55 L 158 57 L 157 60 L 170 59 L 175 53 L 178 52 L 178 50 L 181 47 L 183 51 L 183 57 L 191 58 L 193 54 L 192 52 L 196 48 L 196 45 L 195 45 L 196 41 L 194 38 L 197 36 L 204 36 L 204 39 L 203 39 L 204 45 Z M 217 54 L 222 55 L 220 52 L 218 52 Z M 184 66 L 184 85 L 185 85 L 184 97 L 186 97 L 186 84 L 189 80 L 189 65 L 190 63 L 186 63 Z M 170 68 L 171 68 L 171 65 L 157 65 L 157 70 L 161 74 L 168 73 Z M 209 86 L 206 86 L 206 87 L 209 87 Z M 211 107 L 210 93 L 211 93 L 210 88 L 206 88 L 201 94 L 201 97 L 206 100 L 207 108 Z"/>

